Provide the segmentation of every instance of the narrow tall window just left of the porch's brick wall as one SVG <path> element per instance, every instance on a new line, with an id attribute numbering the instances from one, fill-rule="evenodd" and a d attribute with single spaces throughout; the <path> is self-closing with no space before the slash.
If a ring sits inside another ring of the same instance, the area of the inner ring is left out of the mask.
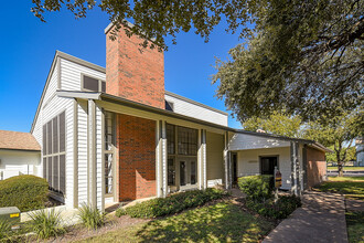
<path id="1" fill-rule="evenodd" d="M 115 115 L 105 113 L 105 193 L 113 194 L 114 184 L 114 147 L 115 147 Z"/>

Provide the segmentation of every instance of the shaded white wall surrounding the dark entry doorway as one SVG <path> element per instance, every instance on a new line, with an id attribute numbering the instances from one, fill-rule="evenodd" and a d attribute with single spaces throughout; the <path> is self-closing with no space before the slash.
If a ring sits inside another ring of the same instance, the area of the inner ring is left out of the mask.
<path id="1" fill-rule="evenodd" d="M 259 156 L 278 156 L 278 167 L 282 173 L 282 189 L 291 188 L 290 147 L 242 150 L 237 152 L 238 177 L 260 175 Z"/>

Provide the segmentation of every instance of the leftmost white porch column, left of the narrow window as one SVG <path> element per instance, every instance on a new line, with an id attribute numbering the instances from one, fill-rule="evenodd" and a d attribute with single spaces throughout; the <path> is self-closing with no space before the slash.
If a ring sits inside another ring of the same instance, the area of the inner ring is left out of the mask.
<path id="1" fill-rule="evenodd" d="M 88 190 L 87 201 L 92 207 L 97 207 L 96 199 L 96 104 L 95 101 L 88 101 Z"/>

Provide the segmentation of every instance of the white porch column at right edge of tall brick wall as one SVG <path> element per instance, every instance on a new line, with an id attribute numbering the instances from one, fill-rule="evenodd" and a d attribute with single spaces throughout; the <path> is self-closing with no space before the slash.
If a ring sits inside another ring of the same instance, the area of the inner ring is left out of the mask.
<path id="1" fill-rule="evenodd" d="M 168 194 L 167 184 L 167 127 L 165 120 L 157 122 L 156 129 L 156 176 L 157 176 L 157 197 L 162 198 Z"/>

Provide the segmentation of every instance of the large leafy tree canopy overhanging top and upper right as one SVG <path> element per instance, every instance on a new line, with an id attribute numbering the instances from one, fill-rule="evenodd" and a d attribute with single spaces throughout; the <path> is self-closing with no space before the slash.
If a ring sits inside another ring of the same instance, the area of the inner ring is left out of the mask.
<path id="1" fill-rule="evenodd" d="M 32 2 L 42 21 L 62 8 L 85 18 L 96 7 L 95 0 Z M 231 50 L 231 61 L 217 61 L 213 82 L 242 122 L 282 109 L 309 120 L 363 108 L 364 0 L 100 0 L 98 7 L 115 31 L 129 19 L 135 27 L 127 34 L 164 50 L 165 36 L 175 43 L 176 33 L 193 31 L 208 41 L 226 20 L 226 31 L 246 42 Z"/>

